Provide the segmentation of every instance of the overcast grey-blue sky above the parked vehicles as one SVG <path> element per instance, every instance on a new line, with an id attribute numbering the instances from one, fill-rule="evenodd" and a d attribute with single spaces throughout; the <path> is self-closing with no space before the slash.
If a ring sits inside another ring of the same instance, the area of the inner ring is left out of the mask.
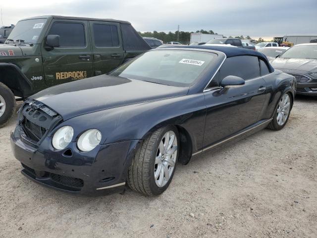
<path id="1" fill-rule="evenodd" d="M 317 35 L 317 0 L 1 0 L 0 8 L 3 25 L 54 14 L 127 20 L 141 32 L 174 32 L 180 25 L 267 40 Z"/>

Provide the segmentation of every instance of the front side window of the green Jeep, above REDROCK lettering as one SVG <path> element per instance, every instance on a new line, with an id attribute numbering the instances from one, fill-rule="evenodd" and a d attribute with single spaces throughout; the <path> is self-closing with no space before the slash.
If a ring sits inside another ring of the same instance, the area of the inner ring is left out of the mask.
<path id="1" fill-rule="evenodd" d="M 55 22 L 49 35 L 59 36 L 60 47 L 85 47 L 85 28 L 81 23 Z"/>

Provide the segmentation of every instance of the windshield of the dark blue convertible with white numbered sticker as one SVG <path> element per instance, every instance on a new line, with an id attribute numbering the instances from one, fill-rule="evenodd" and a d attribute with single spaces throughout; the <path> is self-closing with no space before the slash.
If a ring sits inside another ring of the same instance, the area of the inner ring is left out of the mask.
<path id="1" fill-rule="evenodd" d="M 121 65 L 110 75 L 187 87 L 216 59 L 216 54 L 183 50 L 149 51 Z"/>

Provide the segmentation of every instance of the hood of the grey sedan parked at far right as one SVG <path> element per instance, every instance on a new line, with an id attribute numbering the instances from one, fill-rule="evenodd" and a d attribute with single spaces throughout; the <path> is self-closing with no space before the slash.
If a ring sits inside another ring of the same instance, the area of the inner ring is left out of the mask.
<path id="1" fill-rule="evenodd" d="M 315 59 L 282 59 L 271 61 L 274 68 L 298 69 L 308 72 L 317 72 L 317 60 Z"/>

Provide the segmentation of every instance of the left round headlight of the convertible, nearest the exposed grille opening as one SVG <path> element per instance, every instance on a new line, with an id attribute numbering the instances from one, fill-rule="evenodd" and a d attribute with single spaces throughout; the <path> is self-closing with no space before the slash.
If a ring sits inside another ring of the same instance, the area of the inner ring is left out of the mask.
<path id="1" fill-rule="evenodd" d="M 74 129 L 71 126 L 66 125 L 59 128 L 53 136 L 53 140 L 52 140 L 53 147 L 56 150 L 65 149 L 66 146 L 71 142 L 73 135 L 74 135 Z"/>

